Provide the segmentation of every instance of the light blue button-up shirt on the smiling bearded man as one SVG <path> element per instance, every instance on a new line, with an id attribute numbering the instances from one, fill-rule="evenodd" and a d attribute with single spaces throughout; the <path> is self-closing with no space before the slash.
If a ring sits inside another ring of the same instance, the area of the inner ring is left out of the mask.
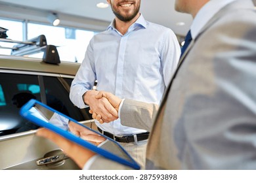
<path id="1" fill-rule="evenodd" d="M 167 27 L 144 20 L 142 14 L 122 35 L 114 21 L 106 31 L 91 39 L 85 59 L 72 82 L 71 101 L 87 107 L 83 94 L 92 90 L 114 93 L 121 98 L 160 104 L 161 97 L 177 67 L 181 48 Z M 119 119 L 96 125 L 114 135 L 131 135 L 144 130 L 121 125 Z"/>

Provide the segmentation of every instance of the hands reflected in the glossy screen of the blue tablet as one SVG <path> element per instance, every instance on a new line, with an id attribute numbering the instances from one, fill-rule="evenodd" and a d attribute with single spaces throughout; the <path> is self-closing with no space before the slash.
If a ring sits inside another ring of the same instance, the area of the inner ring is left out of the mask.
<path id="1" fill-rule="evenodd" d="M 70 131 L 72 133 L 74 133 L 78 137 L 81 137 L 81 139 L 84 139 L 85 141 L 89 141 L 95 145 L 98 145 L 101 142 L 106 141 L 104 137 L 74 122 L 70 121 L 68 123 L 68 126 L 70 127 Z"/>

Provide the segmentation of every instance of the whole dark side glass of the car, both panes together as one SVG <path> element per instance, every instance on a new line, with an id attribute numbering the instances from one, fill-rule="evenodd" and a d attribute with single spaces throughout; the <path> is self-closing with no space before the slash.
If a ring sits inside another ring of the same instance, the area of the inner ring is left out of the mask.
<path id="1" fill-rule="evenodd" d="M 43 90 L 39 77 L 42 76 L 0 73 L 0 136 L 38 128 L 19 114 L 22 105 L 30 99 L 46 103 L 77 121 L 91 119 L 85 111 L 73 105 L 69 91 L 57 77 L 43 76 Z"/>

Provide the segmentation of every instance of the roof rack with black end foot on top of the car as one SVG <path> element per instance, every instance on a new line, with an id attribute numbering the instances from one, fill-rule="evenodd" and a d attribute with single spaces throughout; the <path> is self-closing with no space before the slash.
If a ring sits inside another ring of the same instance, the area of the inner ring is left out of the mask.
<path id="1" fill-rule="evenodd" d="M 13 56 L 25 56 L 43 52 L 44 62 L 54 64 L 60 63 L 60 56 L 58 55 L 56 46 L 51 44 L 47 45 L 45 35 L 39 35 L 28 41 L 14 41 L 11 39 L 0 39 L 0 41 L 18 43 L 12 47 L 0 46 L 0 48 L 11 49 L 11 55 Z"/>

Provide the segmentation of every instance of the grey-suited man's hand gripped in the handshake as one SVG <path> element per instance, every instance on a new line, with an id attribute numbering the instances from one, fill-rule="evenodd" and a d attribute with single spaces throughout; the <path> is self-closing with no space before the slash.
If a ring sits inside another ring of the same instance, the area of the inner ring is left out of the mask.
<path id="1" fill-rule="evenodd" d="M 108 99 L 109 103 L 112 105 L 112 107 L 114 107 L 117 111 L 118 114 L 118 110 L 119 110 L 119 105 L 121 103 L 121 99 L 119 97 L 117 97 L 116 95 L 113 95 L 112 93 L 109 92 L 104 92 L 104 91 L 100 91 L 98 92 L 98 94 L 95 96 L 96 99 L 102 99 L 102 98 L 106 98 Z M 91 114 L 93 114 L 93 118 L 98 120 L 98 122 L 100 122 L 100 124 L 104 123 L 104 122 L 112 122 L 114 120 L 116 120 L 116 118 L 112 118 L 110 120 L 110 118 L 108 120 L 106 120 L 102 114 L 96 112 L 95 110 L 93 110 L 92 108 L 89 110 L 89 112 Z"/>

